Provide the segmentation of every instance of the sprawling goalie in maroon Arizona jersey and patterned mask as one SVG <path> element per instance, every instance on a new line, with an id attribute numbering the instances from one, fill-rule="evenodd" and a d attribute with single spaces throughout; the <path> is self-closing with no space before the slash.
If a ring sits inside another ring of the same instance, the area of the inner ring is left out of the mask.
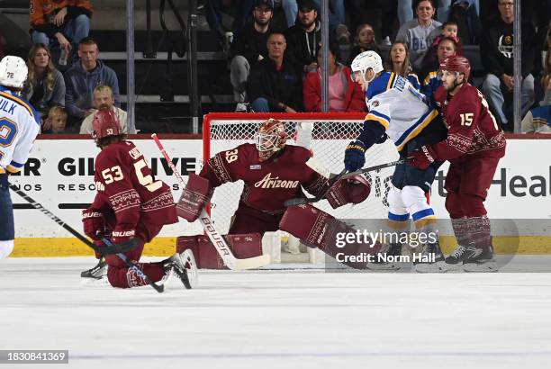
<path id="1" fill-rule="evenodd" d="M 309 166 L 312 151 L 286 145 L 286 139 L 284 124 L 270 119 L 260 125 L 255 144 L 239 145 L 211 157 L 199 175 L 189 176 L 189 182 L 176 205 L 178 215 L 190 222 L 197 220 L 215 187 L 242 179 L 244 189 L 230 225 L 230 236 L 227 237 L 236 257 L 261 255 L 261 236 L 266 231 L 277 229 L 288 231 L 308 246 L 320 247 L 334 256 L 338 250 L 323 233 L 326 223 L 334 220 L 329 214 L 312 205 L 293 206 L 289 210 L 285 208 L 286 200 L 303 195 L 301 187 L 315 196 L 321 196 L 329 189 L 328 179 Z M 358 175 L 338 181 L 331 187 L 326 199 L 333 208 L 338 208 L 346 203 L 363 202 L 369 192 L 366 179 Z M 185 248 L 194 250 L 199 266 L 220 266 L 208 238 L 178 238 L 178 250 Z"/>

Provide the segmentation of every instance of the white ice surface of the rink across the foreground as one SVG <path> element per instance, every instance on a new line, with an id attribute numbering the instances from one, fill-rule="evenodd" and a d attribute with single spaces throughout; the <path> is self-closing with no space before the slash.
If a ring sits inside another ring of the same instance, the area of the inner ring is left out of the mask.
<path id="1" fill-rule="evenodd" d="M 201 271 L 197 289 L 172 281 L 162 294 L 82 286 L 80 271 L 94 264 L 91 257 L 0 261 L 0 347 L 67 349 L 68 365 L 50 368 L 547 368 L 551 361 L 551 257 L 515 257 L 493 274 Z M 514 273 L 526 267 L 539 273 Z"/>

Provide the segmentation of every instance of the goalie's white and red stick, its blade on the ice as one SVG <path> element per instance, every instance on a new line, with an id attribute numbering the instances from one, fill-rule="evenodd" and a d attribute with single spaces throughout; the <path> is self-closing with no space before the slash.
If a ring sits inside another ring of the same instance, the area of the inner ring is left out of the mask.
<path id="1" fill-rule="evenodd" d="M 182 185 L 185 185 L 184 178 L 182 178 L 182 175 L 178 173 L 176 166 L 174 166 L 174 163 L 168 156 L 167 151 L 163 147 L 163 144 L 161 143 L 161 141 L 158 139 L 157 134 L 153 133 L 151 135 L 151 138 L 155 140 L 158 150 L 163 154 L 163 157 L 165 157 L 165 159 L 167 160 L 167 164 L 168 166 L 170 166 L 170 169 L 172 169 L 172 172 L 174 173 L 174 175 L 176 175 L 178 182 Z M 201 225 L 203 226 L 203 229 L 206 232 L 207 237 L 211 240 L 212 245 L 214 245 L 214 247 L 216 248 L 216 251 L 220 255 L 225 266 L 228 266 L 232 270 L 244 270 L 244 269 L 255 269 L 257 267 L 267 266 L 268 264 L 270 264 L 269 255 L 261 255 L 260 257 L 248 257 L 246 259 L 238 259 L 237 257 L 235 257 L 231 252 L 230 247 L 228 247 L 226 240 L 223 237 L 221 237 L 221 235 L 214 228 L 211 217 L 208 214 L 208 212 L 206 212 L 204 207 L 203 207 L 203 210 L 201 211 L 201 214 L 199 215 L 199 221 L 201 222 Z"/>

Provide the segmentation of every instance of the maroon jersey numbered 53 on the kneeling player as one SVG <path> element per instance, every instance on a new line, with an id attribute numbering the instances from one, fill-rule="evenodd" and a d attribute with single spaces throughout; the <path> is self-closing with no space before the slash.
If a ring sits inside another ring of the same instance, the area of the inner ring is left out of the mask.
<path id="1" fill-rule="evenodd" d="M 169 187 L 155 180 L 132 142 L 104 148 L 95 157 L 94 177 L 97 193 L 91 208 L 104 213 L 113 232 L 136 230 L 140 223 L 146 229 L 137 229 L 136 235 L 149 242 L 159 226 L 178 221 Z"/>

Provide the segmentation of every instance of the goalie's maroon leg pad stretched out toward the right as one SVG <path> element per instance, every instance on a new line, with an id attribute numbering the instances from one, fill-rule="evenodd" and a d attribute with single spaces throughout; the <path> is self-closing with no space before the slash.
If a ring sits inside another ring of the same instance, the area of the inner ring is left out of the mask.
<path id="1" fill-rule="evenodd" d="M 287 208 L 279 229 L 300 238 L 306 246 L 318 247 L 330 257 L 356 269 L 365 269 L 368 256 L 375 256 L 381 248 L 378 241 L 369 237 L 354 238 L 348 242 L 349 238 L 345 238 L 349 234 L 357 235 L 357 229 L 312 205 Z"/>

